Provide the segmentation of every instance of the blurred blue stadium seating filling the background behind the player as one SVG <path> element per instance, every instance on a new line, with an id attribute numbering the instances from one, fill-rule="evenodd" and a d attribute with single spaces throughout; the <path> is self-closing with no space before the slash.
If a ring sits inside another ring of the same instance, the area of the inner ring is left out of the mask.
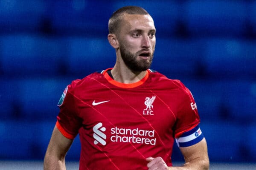
<path id="1" fill-rule="evenodd" d="M 256 0 L 0 0 L 0 168 L 42 169 L 64 88 L 113 67 L 108 19 L 127 5 L 154 19 L 151 68 L 192 91 L 212 169 L 256 169 Z"/>

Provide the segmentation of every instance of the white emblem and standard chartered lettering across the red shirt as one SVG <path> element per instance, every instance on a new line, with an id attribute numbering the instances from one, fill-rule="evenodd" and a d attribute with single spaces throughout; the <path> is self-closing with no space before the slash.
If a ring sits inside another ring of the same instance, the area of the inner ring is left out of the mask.
<path id="1" fill-rule="evenodd" d="M 94 144 L 101 143 L 106 145 L 106 135 L 103 133 L 106 131 L 105 127 L 102 127 L 102 123 L 98 123 L 93 127 Z M 150 144 L 156 145 L 156 138 L 154 137 L 154 130 L 143 129 L 129 129 L 129 128 L 111 128 L 110 141 L 121 143 L 137 143 L 137 144 Z"/>

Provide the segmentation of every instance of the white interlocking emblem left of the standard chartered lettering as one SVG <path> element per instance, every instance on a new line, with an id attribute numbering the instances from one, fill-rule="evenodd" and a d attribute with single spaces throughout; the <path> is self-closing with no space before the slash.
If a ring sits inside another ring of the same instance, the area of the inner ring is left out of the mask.
<path id="1" fill-rule="evenodd" d="M 106 138 L 107 136 L 102 133 L 105 132 L 106 128 L 102 127 L 102 123 L 98 123 L 97 125 L 93 126 L 93 138 L 95 139 L 94 144 L 101 143 L 102 145 L 106 145 Z"/>

